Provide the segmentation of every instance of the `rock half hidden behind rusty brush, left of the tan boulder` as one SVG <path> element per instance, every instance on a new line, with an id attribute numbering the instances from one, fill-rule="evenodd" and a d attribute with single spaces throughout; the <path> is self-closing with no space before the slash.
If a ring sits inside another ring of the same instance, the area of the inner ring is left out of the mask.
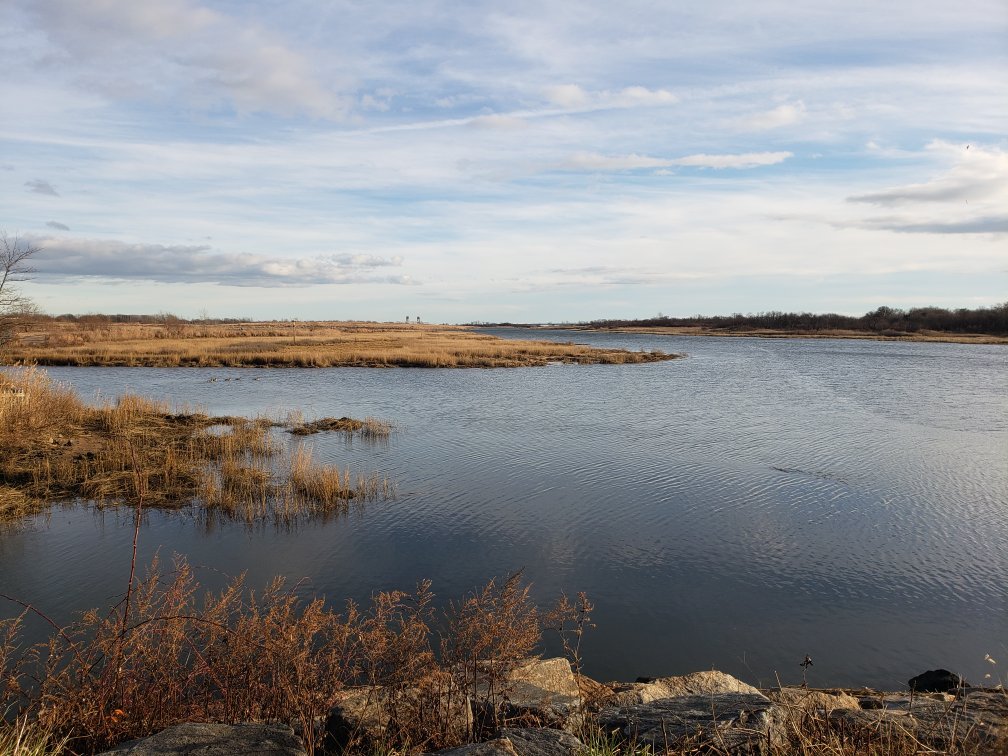
<path id="1" fill-rule="evenodd" d="M 473 731 L 473 709 L 461 692 L 449 697 L 410 688 L 393 696 L 381 686 L 349 688 L 326 718 L 326 747 L 373 749 L 405 721 L 442 742 L 464 742 Z"/>

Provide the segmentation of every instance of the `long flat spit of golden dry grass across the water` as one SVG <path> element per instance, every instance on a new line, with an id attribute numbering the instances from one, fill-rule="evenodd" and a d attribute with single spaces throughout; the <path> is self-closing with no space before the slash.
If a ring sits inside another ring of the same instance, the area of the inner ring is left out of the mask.
<path id="1" fill-rule="evenodd" d="M 496 368 L 550 362 L 626 364 L 662 352 L 498 339 L 448 326 L 376 323 L 43 323 L 21 334 L 7 364 L 145 367 Z"/>

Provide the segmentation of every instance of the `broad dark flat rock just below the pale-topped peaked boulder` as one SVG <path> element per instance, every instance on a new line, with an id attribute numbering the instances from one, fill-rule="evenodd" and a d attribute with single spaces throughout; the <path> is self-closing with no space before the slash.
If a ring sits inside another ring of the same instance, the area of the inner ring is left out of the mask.
<path id="1" fill-rule="evenodd" d="M 708 743 L 716 745 L 719 752 L 764 754 L 784 744 L 784 715 L 759 692 L 678 696 L 646 704 L 607 706 L 599 712 L 598 720 L 603 731 L 619 731 L 626 741 L 650 746 L 659 753 L 666 747 Z"/>

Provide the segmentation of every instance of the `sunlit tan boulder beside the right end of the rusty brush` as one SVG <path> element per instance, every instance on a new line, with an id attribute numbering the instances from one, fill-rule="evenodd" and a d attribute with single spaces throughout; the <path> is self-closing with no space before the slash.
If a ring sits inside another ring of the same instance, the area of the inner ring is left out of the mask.
<path id="1" fill-rule="evenodd" d="M 566 659 L 528 659 L 498 684 L 503 699 L 500 724 L 574 730 L 584 721 L 581 689 Z M 477 699 L 485 700 L 488 694 L 487 682 L 478 682 Z"/>

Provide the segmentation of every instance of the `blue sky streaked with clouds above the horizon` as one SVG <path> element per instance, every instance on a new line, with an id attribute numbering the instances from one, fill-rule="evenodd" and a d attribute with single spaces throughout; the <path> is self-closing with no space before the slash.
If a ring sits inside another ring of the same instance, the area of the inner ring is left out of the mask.
<path id="1" fill-rule="evenodd" d="M 1004 0 L 0 0 L 43 310 L 1008 300 Z"/>

